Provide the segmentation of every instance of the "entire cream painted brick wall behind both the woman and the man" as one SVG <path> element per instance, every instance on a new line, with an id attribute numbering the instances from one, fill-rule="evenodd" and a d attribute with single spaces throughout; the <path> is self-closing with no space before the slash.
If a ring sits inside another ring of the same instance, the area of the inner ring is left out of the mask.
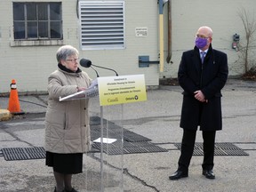
<path id="1" fill-rule="evenodd" d="M 0 2 L 0 92 L 10 92 L 12 79 L 17 81 L 19 92 L 46 91 L 47 77 L 57 68 L 55 46 L 13 47 L 12 2 Z M 26 0 L 31 1 L 31 0 Z M 36 0 L 37 2 L 38 0 Z M 41 0 L 40 0 L 41 1 Z M 41 2 L 53 2 L 42 0 Z M 239 52 L 231 48 L 232 36 L 237 33 L 244 41 L 244 27 L 237 16 L 238 9 L 255 11 L 255 0 L 171 0 L 172 1 L 172 64 L 167 57 L 167 4 L 164 4 L 164 72 L 157 64 L 139 68 L 138 57 L 148 55 L 159 60 L 158 4 L 157 0 L 125 0 L 125 41 L 123 50 L 82 51 L 79 47 L 79 20 L 75 0 L 62 2 L 63 44 L 76 46 L 80 58 L 88 58 L 95 65 L 115 68 L 119 76 L 144 74 L 147 85 L 158 85 L 159 77 L 177 77 L 182 52 L 194 47 L 197 28 L 207 25 L 213 30 L 212 46 L 228 54 L 229 76 L 237 76 L 243 68 Z M 34 1 L 31 1 L 34 2 Z M 135 28 L 148 28 L 148 36 L 136 37 Z M 254 61 L 252 53 L 250 60 Z M 92 68 L 82 68 L 95 78 Z M 115 76 L 111 71 L 99 69 L 100 76 Z"/>

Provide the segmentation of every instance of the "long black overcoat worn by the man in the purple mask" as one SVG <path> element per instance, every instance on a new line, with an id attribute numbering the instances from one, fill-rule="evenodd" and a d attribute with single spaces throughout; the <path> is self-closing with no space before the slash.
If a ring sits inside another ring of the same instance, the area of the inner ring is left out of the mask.
<path id="1" fill-rule="evenodd" d="M 222 129 L 221 92 L 228 79 L 228 57 L 224 52 L 212 49 L 212 45 L 201 64 L 199 50 L 183 52 L 178 72 L 183 88 L 180 127 L 202 131 Z M 208 102 L 195 99 L 194 92 L 201 90 Z"/>

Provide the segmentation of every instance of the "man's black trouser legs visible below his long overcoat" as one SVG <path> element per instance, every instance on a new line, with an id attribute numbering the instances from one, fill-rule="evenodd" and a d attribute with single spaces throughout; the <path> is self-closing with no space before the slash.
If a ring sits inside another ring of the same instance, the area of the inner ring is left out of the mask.
<path id="1" fill-rule="evenodd" d="M 205 132 L 202 131 L 204 140 L 204 161 L 202 167 L 204 170 L 212 170 L 214 158 L 214 144 L 216 131 Z M 193 155 L 196 141 L 196 130 L 183 129 L 183 137 L 181 142 L 181 153 L 179 159 L 179 170 L 188 172 L 191 157 Z"/>

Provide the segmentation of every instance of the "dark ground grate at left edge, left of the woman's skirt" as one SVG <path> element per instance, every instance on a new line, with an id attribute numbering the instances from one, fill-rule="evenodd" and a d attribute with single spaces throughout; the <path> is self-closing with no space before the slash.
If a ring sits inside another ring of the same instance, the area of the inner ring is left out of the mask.
<path id="1" fill-rule="evenodd" d="M 43 147 L 2 148 L 2 153 L 6 161 L 45 158 L 45 150 Z"/>

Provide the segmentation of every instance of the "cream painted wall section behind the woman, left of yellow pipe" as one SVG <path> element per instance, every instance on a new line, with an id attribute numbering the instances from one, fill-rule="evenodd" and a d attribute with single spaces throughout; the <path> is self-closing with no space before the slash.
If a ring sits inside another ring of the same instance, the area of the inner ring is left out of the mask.
<path id="1" fill-rule="evenodd" d="M 122 50 L 82 51 L 80 49 L 76 1 L 62 0 L 62 18 L 63 42 L 75 46 L 80 52 L 80 58 L 88 58 L 95 65 L 114 68 L 119 76 L 144 74 L 146 85 L 158 85 L 158 65 L 139 68 L 138 63 L 139 55 L 148 55 L 150 60 L 158 60 L 156 0 L 125 1 L 126 47 Z M 148 36 L 135 37 L 135 28 L 138 27 L 147 27 Z M 19 92 L 46 91 L 47 77 L 57 68 L 55 53 L 60 46 L 11 47 L 10 42 L 13 40 L 12 0 L 1 0 L 0 33 L 0 58 L 2 60 L 0 92 L 10 92 L 12 79 L 16 80 Z M 82 69 L 92 78 L 96 77 L 92 68 Z M 104 69 L 99 69 L 98 72 L 100 76 L 115 76 L 113 72 Z"/>

